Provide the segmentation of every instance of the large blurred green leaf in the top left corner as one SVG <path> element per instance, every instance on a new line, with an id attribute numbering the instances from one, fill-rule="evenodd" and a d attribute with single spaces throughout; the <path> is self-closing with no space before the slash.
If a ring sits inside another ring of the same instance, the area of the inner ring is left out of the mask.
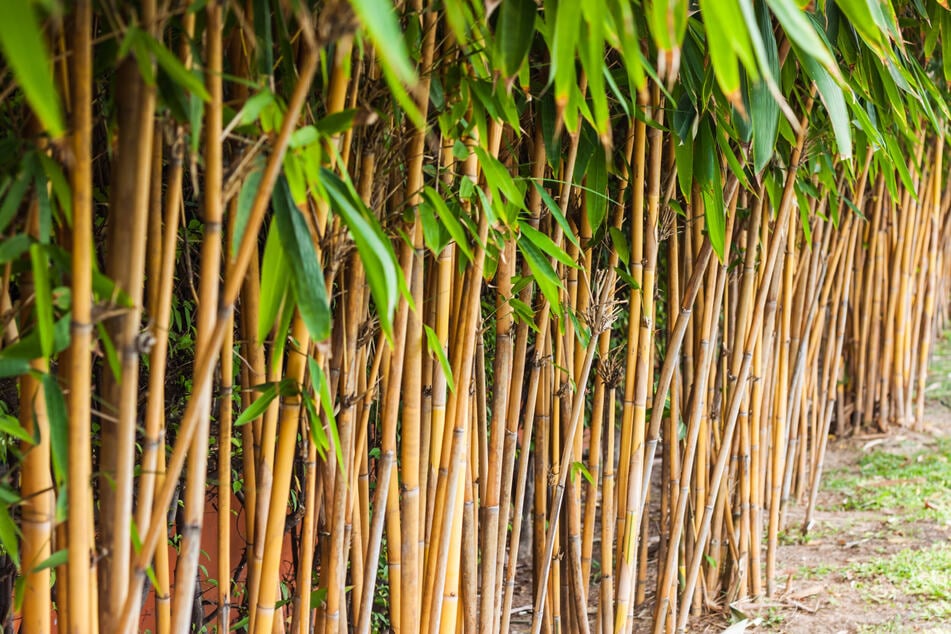
<path id="1" fill-rule="evenodd" d="M 0 49 L 36 117 L 53 137 L 65 131 L 59 95 L 53 83 L 46 37 L 36 20 L 33 3 L 0 2 Z"/>

